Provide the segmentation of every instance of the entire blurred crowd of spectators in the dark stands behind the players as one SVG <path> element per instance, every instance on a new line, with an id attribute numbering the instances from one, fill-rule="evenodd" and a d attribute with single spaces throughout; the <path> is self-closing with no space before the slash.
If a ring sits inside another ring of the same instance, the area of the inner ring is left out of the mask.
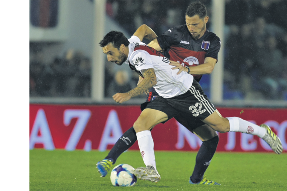
<path id="1" fill-rule="evenodd" d="M 161 35 L 170 27 L 185 24 L 185 10 L 191 2 L 107 0 L 106 13 L 129 36 L 142 24 Z M 211 0 L 201 2 L 212 16 Z M 286 4 L 286 0 L 226 0 L 225 47 L 221 50 L 225 56 L 224 90 L 237 96 L 229 94 L 225 99 L 287 100 Z M 212 31 L 211 27 L 210 19 L 207 29 Z M 48 65 L 30 61 L 29 96 L 90 96 L 90 58 L 69 51 Z M 129 68 L 113 65 L 105 63 L 105 97 L 109 98 L 138 82 L 138 75 Z"/>

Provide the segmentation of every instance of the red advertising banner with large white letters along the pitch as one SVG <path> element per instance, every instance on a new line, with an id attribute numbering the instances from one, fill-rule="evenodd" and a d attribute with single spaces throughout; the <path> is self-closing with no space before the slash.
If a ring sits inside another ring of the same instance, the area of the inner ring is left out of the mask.
<path id="1" fill-rule="evenodd" d="M 217 108 L 223 117 L 240 117 L 254 124 L 269 125 L 287 152 L 287 109 Z M 120 136 L 133 126 L 140 115 L 139 106 L 114 105 L 45 105 L 29 104 L 29 149 L 109 150 Z M 217 151 L 270 152 L 257 136 L 218 133 Z M 171 119 L 152 130 L 155 150 L 196 151 L 200 139 Z M 130 148 L 138 150 L 137 142 Z"/>

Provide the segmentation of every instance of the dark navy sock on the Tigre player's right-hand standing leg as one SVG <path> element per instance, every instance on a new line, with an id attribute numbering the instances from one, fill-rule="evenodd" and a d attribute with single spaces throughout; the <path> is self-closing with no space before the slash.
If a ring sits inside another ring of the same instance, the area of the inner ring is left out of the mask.
<path id="1" fill-rule="evenodd" d="M 210 161 L 216 151 L 218 141 L 219 138 L 216 136 L 208 141 L 202 142 L 201 147 L 196 155 L 196 162 L 193 173 L 190 176 L 190 180 L 193 183 L 198 183 L 202 180 L 204 172 L 209 166 Z"/>

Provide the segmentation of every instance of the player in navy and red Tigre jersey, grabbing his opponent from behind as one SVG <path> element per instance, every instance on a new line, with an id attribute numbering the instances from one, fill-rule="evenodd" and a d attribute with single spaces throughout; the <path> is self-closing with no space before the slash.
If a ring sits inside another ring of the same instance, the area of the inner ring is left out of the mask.
<path id="1" fill-rule="evenodd" d="M 210 74 L 215 66 L 221 47 L 220 39 L 216 34 L 207 30 L 207 9 L 201 2 L 193 2 L 187 7 L 185 19 L 186 24 L 170 28 L 159 37 L 146 25 L 139 27 L 135 34 L 145 33 L 144 38 L 151 41 L 148 46 L 158 51 L 166 50 L 163 52 L 164 56 L 175 61 L 171 65 L 178 67 L 178 64 L 182 63 L 186 70 L 187 67 L 190 70 L 189 74 L 193 75 L 194 79 L 199 82 L 202 75 Z M 140 77 L 138 84 L 141 80 Z M 144 110 L 148 102 L 158 96 L 154 88 L 151 88 L 147 94 L 146 102 L 141 104 L 141 110 Z M 214 181 L 208 180 L 204 176 L 204 172 L 209 167 L 219 142 L 216 131 L 200 119 L 189 118 L 185 113 L 180 113 L 174 118 L 177 121 L 184 118 L 185 123 L 182 123 L 181 120 L 181 124 L 202 141 L 190 176 L 190 184 L 215 184 Z M 129 142 L 126 141 L 126 138 Z M 133 127 L 123 133 L 108 155 L 97 163 L 101 177 L 107 175 L 120 154 L 129 149 L 136 140 L 137 136 Z"/>

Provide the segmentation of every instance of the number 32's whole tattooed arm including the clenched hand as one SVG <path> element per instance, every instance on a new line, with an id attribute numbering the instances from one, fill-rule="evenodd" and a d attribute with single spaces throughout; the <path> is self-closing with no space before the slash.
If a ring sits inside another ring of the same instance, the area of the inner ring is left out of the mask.
<path id="1" fill-rule="evenodd" d="M 121 104 L 124 101 L 128 101 L 132 97 L 141 95 L 156 84 L 156 75 L 153 68 L 141 70 L 141 73 L 143 74 L 144 79 L 143 81 L 141 81 L 140 84 L 138 84 L 137 87 L 127 93 L 116 93 L 115 95 L 113 95 L 113 99 L 117 103 Z"/>

